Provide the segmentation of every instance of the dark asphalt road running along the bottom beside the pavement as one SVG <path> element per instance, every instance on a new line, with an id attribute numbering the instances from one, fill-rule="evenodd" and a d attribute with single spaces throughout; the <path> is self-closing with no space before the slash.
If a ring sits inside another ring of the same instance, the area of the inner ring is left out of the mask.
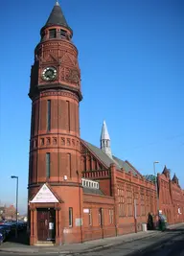
<path id="1" fill-rule="evenodd" d="M 0 252 L 0 256 L 22 256 L 19 253 Z M 33 254 L 31 254 L 33 256 Z M 26 256 L 31 256 L 26 254 Z M 34 253 L 39 256 L 77 256 L 78 254 Z M 145 238 L 130 243 L 114 245 L 97 251 L 80 253 L 81 256 L 184 256 L 184 226 L 169 230 L 159 236 Z"/>

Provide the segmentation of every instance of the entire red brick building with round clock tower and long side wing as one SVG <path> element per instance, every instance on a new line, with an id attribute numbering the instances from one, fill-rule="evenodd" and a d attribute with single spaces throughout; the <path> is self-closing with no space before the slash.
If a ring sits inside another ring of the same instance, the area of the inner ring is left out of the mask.
<path id="1" fill-rule="evenodd" d="M 149 212 L 156 213 L 155 185 L 112 155 L 105 123 L 101 149 L 81 140 L 78 50 L 58 1 L 40 35 L 29 93 L 30 244 L 82 243 L 140 231 Z M 183 221 L 178 180 L 164 173 L 158 184 L 160 209 L 171 222 Z"/>

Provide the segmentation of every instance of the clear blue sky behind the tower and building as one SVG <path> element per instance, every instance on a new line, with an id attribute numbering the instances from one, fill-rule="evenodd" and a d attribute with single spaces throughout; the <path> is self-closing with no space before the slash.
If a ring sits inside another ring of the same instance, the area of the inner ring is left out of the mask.
<path id="1" fill-rule="evenodd" d="M 55 0 L 1 5 L 0 200 L 26 211 L 34 47 Z M 80 52 L 81 138 L 152 174 L 153 161 L 184 188 L 184 1 L 60 0 Z"/>

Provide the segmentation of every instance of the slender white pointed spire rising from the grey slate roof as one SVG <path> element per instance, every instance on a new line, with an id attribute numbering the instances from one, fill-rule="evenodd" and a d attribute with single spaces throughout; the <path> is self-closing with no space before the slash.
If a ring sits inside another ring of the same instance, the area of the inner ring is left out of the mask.
<path id="1" fill-rule="evenodd" d="M 110 136 L 104 121 L 102 133 L 101 133 L 101 150 L 104 151 L 108 156 L 112 157 L 112 152 L 110 148 Z"/>

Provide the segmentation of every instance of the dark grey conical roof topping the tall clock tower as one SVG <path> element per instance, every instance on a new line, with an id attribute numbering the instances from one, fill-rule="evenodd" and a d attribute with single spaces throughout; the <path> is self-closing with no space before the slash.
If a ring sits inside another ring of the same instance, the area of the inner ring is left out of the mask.
<path id="1" fill-rule="evenodd" d="M 58 4 L 58 1 L 56 2 L 55 6 L 53 8 L 53 10 L 45 24 L 45 27 L 49 27 L 49 26 L 53 26 L 53 25 L 54 26 L 58 25 L 58 26 L 62 26 L 62 27 L 70 29 L 70 27 L 68 26 L 68 24 L 66 22 L 64 15 L 63 15 L 63 12 Z"/>

